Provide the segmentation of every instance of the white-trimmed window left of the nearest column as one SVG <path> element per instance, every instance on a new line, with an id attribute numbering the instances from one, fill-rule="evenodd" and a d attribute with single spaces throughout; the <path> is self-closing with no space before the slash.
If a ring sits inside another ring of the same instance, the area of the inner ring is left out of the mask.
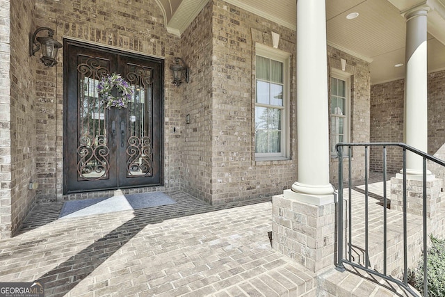
<path id="1" fill-rule="evenodd" d="M 256 45 L 255 157 L 259 160 L 288 157 L 289 56 Z"/>

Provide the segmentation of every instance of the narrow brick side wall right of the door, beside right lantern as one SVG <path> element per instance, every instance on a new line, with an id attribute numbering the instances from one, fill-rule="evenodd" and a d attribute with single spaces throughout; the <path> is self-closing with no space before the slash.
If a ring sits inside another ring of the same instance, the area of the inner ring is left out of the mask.
<path id="1" fill-rule="evenodd" d="M 184 89 L 181 131 L 184 137 L 181 170 L 182 188 L 197 198 L 211 202 L 212 150 L 212 1 L 181 36 L 184 59 L 191 69 L 191 80 Z"/>

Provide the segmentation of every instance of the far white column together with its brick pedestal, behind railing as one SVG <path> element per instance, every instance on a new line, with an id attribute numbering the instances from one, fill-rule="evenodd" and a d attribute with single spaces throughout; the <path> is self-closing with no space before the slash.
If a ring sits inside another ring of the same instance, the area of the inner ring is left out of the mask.
<path id="1" fill-rule="evenodd" d="M 428 74 L 427 74 L 427 14 L 421 6 L 405 12 L 405 143 L 428 152 Z M 407 212 L 423 215 L 423 158 L 407 152 Z M 439 210 L 442 179 L 436 179 L 429 170 L 426 183 L 426 216 L 434 217 Z M 403 175 L 391 179 L 391 209 L 403 211 Z"/>

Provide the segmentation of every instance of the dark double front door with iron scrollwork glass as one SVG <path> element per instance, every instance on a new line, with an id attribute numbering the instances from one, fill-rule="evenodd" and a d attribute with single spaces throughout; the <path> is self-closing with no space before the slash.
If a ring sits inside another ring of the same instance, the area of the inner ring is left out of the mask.
<path id="1" fill-rule="evenodd" d="M 64 193 L 161 184 L 163 60 L 64 43 Z M 97 92 L 112 73 L 133 89 L 126 109 Z"/>

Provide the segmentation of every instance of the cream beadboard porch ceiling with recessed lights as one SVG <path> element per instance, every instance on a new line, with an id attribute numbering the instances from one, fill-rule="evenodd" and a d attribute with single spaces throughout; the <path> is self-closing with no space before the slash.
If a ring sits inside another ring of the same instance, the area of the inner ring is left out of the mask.
<path id="1" fill-rule="evenodd" d="M 209 0 L 156 0 L 170 33 L 180 35 Z M 296 0 L 225 0 L 234 6 L 296 28 Z M 371 62 L 371 83 L 404 77 L 404 10 L 426 3 L 428 71 L 445 70 L 445 0 L 326 0 L 327 44 Z M 346 19 L 348 13 L 359 17 Z"/>

